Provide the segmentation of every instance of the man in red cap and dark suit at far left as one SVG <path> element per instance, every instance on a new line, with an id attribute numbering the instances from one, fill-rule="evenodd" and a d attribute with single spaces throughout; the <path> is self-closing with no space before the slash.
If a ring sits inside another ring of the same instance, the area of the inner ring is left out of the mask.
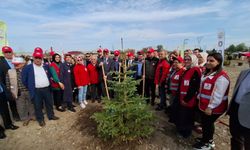
<path id="1" fill-rule="evenodd" d="M 9 69 L 14 68 L 14 65 L 12 64 L 14 54 L 12 48 L 9 46 L 2 47 L 2 53 L 4 54 L 4 57 L 0 57 L 0 69 L 2 70 L 0 73 L 0 81 L 6 86 L 6 74 Z M 12 97 L 9 90 L 6 91 L 6 94 L 6 98 L 9 101 L 13 119 L 16 121 L 20 121 L 15 99 Z"/>

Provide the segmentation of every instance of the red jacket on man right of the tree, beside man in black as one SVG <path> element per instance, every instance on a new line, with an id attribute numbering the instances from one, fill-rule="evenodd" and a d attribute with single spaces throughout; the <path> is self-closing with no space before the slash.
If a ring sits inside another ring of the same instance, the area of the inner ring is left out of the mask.
<path id="1" fill-rule="evenodd" d="M 166 59 L 159 60 L 155 71 L 155 84 L 161 84 L 162 82 L 165 82 L 169 73 L 169 69 L 170 65 Z"/>

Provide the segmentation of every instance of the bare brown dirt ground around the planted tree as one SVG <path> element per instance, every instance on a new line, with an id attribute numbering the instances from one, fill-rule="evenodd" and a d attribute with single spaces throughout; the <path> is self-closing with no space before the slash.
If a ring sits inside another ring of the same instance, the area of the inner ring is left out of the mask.
<path id="1" fill-rule="evenodd" d="M 239 72 L 248 68 L 248 64 L 237 66 L 238 61 L 231 63 L 231 66 L 225 67 L 231 79 L 231 90 Z M 101 110 L 99 103 L 89 102 L 84 110 L 76 108 L 77 112 L 69 111 L 58 112 L 55 114 L 60 117 L 57 121 L 46 121 L 46 126 L 41 128 L 37 122 L 32 121 L 28 126 L 22 126 L 21 122 L 15 122 L 20 128 L 12 131 L 7 130 L 6 139 L 0 140 L 1 150 L 185 150 L 192 149 L 194 138 L 198 137 L 193 132 L 192 137 L 188 139 L 178 138 L 174 125 L 168 122 L 167 115 L 164 112 L 155 112 L 157 122 L 156 131 L 148 139 L 141 139 L 136 142 L 123 143 L 121 145 L 112 145 L 110 141 L 103 142 L 97 137 L 96 123 L 90 119 L 90 116 Z M 152 108 L 153 109 L 153 108 Z M 224 116 L 216 123 L 214 135 L 217 150 L 227 150 L 230 148 L 230 134 L 228 117 Z"/>

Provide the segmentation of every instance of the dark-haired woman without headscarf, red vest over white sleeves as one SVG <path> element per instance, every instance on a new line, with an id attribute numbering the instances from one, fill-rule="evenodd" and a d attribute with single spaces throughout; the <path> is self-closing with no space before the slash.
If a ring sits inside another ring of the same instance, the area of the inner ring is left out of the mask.
<path id="1" fill-rule="evenodd" d="M 207 57 L 206 70 L 201 78 L 199 109 L 201 110 L 202 138 L 197 138 L 195 149 L 212 149 L 214 122 L 227 110 L 230 80 L 222 69 L 223 57 L 212 53 Z"/>

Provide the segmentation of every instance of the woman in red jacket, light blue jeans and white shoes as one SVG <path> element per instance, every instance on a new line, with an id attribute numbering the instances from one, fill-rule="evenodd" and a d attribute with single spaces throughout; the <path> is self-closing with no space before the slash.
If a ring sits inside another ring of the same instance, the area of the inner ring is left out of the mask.
<path id="1" fill-rule="evenodd" d="M 86 100 L 87 88 L 90 84 L 87 67 L 83 63 L 82 57 L 77 57 L 77 64 L 74 67 L 75 83 L 78 87 L 78 101 L 82 109 L 88 104 Z"/>

